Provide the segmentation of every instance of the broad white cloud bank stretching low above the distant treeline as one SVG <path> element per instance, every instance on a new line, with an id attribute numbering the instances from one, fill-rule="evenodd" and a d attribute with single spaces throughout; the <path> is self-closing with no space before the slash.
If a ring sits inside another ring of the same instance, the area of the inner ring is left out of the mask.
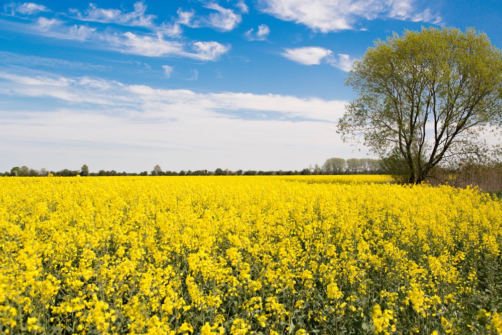
<path id="1" fill-rule="evenodd" d="M 84 161 L 91 169 L 127 171 L 155 164 L 170 170 L 289 170 L 322 162 L 333 148 L 342 157 L 352 155 L 333 124 L 346 101 L 197 93 L 51 74 L 0 78 L 0 92 L 20 106 L 0 113 L 0 143 L 10 144 L 2 147 L 2 162 L 9 164 L 22 159 L 49 169 L 78 168 Z M 24 109 L 27 97 L 58 107 Z M 40 146 L 44 155 L 35 154 Z"/>

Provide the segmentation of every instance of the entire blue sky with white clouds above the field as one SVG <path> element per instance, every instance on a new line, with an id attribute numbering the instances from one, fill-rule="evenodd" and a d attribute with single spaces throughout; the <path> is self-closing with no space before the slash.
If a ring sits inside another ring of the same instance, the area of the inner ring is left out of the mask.
<path id="1" fill-rule="evenodd" d="M 0 171 L 295 170 L 364 158 L 336 122 L 377 39 L 474 27 L 502 1 L 0 2 Z"/>

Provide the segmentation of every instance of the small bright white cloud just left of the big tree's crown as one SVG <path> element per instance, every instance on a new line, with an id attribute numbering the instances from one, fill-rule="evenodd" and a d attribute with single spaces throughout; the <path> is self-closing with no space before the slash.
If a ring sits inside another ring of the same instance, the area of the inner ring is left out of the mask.
<path id="1" fill-rule="evenodd" d="M 350 71 L 354 62 L 354 59 L 347 54 L 339 53 L 335 56 L 333 51 L 321 47 L 285 49 L 281 55 L 303 65 L 326 63 L 345 72 Z"/>

